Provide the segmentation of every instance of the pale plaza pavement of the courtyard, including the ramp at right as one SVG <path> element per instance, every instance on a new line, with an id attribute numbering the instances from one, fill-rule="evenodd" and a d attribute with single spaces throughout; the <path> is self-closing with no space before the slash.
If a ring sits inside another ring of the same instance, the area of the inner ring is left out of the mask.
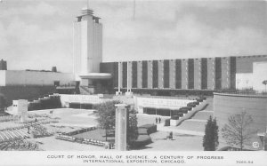
<path id="1" fill-rule="evenodd" d="M 152 143 L 140 150 L 145 151 L 202 151 L 202 139 L 204 135 L 204 127 L 208 115 L 212 115 L 212 107 L 206 107 L 203 112 L 200 111 L 194 115 L 191 119 L 184 121 L 184 126 L 168 126 L 165 127 L 165 120 L 169 117 L 159 115 L 145 115 L 137 114 L 138 126 L 143 124 L 156 124 L 156 117 L 161 117 L 161 123 L 157 123 L 158 131 L 150 134 Z M 38 110 L 30 111 L 29 114 L 48 114 L 50 110 Z M 93 110 L 71 109 L 61 108 L 54 109 L 53 117 L 59 117 L 60 123 L 54 123 L 55 125 L 73 126 L 73 127 L 91 127 L 97 125 L 95 117 L 92 115 Z M 187 124 L 189 123 L 189 124 Z M 195 123 L 197 125 L 192 125 Z M 203 125 L 199 125 L 203 124 Z M 186 126 L 186 127 L 185 127 Z M 190 127 L 193 130 L 190 129 Z M 201 126 L 200 128 L 196 128 Z M 188 128 L 189 127 L 189 128 Z M 169 132 L 173 131 L 174 140 L 166 139 Z M 47 151 L 102 151 L 107 150 L 101 146 L 91 146 L 85 144 L 79 144 L 69 141 L 56 139 L 54 136 L 46 138 L 34 138 L 34 141 L 40 142 L 39 146 L 43 150 Z"/>

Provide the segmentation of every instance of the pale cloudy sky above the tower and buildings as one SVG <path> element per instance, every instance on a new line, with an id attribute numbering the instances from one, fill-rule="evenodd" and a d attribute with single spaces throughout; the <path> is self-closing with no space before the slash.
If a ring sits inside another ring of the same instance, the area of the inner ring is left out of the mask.
<path id="1" fill-rule="evenodd" d="M 87 0 L 2 0 L 8 69 L 72 72 L 73 22 Z M 267 54 L 266 1 L 89 0 L 103 25 L 103 61 Z"/>

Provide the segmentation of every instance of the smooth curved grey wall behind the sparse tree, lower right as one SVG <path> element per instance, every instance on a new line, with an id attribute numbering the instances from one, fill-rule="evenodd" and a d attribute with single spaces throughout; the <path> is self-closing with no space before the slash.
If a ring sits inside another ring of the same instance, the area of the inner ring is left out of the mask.
<path id="1" fill-rule="evenodd" d="M 214 116 L 220 130 L 220 144 L 224 143 L 221 130 L 224 124 L 228 123 L 228 117 L 243 111 L 252 116 L 254 123 L 250 125 L 249 130 L 255 131 L 245 148 L 260 150 L 263 146 L 257 132 L 266 131 L 267 96 L 214 93 Z M 260 144 L 259 148 L 252 146 L 255 141 Z"/>

